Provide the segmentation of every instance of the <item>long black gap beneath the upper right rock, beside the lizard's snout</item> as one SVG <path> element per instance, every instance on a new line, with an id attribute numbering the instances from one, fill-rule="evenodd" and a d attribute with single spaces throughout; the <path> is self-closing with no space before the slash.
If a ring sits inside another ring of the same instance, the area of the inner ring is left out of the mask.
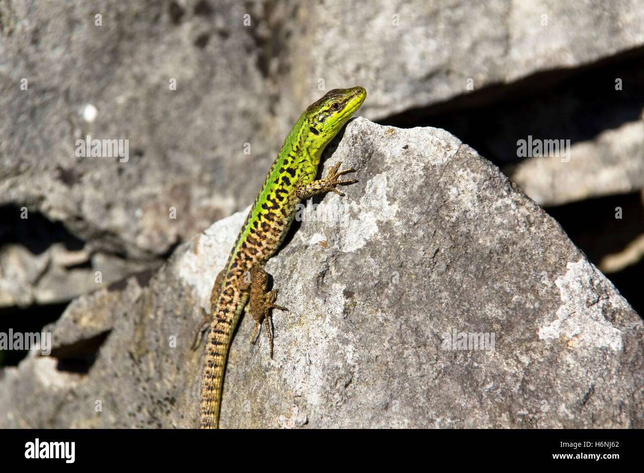
<path id="1" fill-rule="evenodd" d="M 615 80 L 622 80 L 622 90 Z M 517 140 L 591 140 L 641 119 L 644 47 L 587 66 L 535 73 L 440 104 L 378 120 L 396 127 L 446 129 L 497 165 L 518 162 Z M 476 86 L 476 84 L 475 84 Z"/>

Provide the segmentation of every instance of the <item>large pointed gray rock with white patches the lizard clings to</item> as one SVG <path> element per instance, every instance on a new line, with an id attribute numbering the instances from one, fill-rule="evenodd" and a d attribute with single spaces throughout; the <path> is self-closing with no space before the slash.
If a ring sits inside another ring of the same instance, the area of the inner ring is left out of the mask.
<path id="1" fill-rule="evenodd" d="M 497 167 L 441 129 L 364 118 L 324 159 L 359 183 L 267 264 L 289 311 L 274 360 L 242 320 L 222 427 L 644 427 L 642 321 Z M 189 345 L 244 217 L 73 301 L 52 355 L 93 366 L 5 368 L 0 426 L 198 426 L 204 353 Z"/>

